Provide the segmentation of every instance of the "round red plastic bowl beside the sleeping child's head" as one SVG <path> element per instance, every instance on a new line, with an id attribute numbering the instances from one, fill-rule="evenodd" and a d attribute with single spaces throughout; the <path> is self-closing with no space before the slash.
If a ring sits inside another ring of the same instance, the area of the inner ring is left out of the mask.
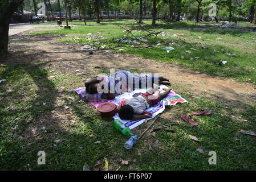
<path id="1" fill-rule="evenodd" d="M 112 102 L 103 102 L 97 106 L 97 110 L 104 117 L 112 117 L 116 114 L 117 105 Z"/>

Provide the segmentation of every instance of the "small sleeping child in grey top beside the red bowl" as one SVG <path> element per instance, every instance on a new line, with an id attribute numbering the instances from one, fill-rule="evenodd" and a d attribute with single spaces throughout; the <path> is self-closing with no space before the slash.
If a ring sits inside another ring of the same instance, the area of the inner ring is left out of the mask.
<path id="1" fill-rule="evenodd" d="M 131 98 L 129 100 L 121 101 L 118 106 L 118 114 L 121 119 L 133 120 L 151 118 L 152 114 L 149 111 L 145 111 L 148 107 L 151 107 L 162 98 L 166 97 L 171 88 L 164 88 L 165 92 L 160 93 L 158 91 L 159 86 L 153 85 L 151 90 L 141 94 L 138 97 Z"/>

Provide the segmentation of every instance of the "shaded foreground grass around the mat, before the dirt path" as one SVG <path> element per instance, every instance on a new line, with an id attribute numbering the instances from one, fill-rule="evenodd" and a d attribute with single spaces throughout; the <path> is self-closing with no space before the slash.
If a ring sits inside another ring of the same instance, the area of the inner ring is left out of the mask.
<path id="1" fill-rule="evenodd" d="M 97 70 L 100 72 L 104 71 Z M 51 75 L 55 78 L 48 78 Z M 166 109 L 156 126 L 192 110 L 213 109 L 213 114 L 194 117 L 200 123 L 198 127 L 180 122 L 178 126 L 169 127 L 176 133 L 156 131 L 156 137 L 145 135 L 132 150 L 126 150 L 123 144 L 128 138 L 113 129 L 112 119 L 100 117 L 92 105 L 79 102 L 73 89 L 83 86 L 80 76 L 44 68 L 39 63 L 27 63 L 0 67 L 0 77 L 7 79 L 0 87 L 0 93 L 4 93 L 0 98 L 1 170 L 82 170 L 84 163 L 92 168 L 104 157 L 111 170 L 120 166 L 120 170 L 256 169 L 255 137 L 237 133 L 241 129 L 255 132 L 255 105 L 239 101 L 231 104 L 221 96 L 219 100 L 204 96 L 195 98 L 190 90 L 174 85 L 173 90 L 186 98 L 188 104 Z M 64 86 L 62 93 L 58 92 L 61 86 Z M 6 93 L 7 89 L 13 89 L 13 92 Z M 65 110 L 63 105 L 69 101 L 72 101 L 68 105 L 70 109 Z M 75 122 L 71 119 L 64 123 L 55 121 L 55 111 L 60 114 L 71 111 Z M 150 123 L 137 127 L 133 133 L 140 134 Z M 17 129 L 11 129 L 15 125 L 19 125 Z M 46 126 L 47 132 L 41 129 L 42 126 Z M 31 137 L 29 128 L 39 135 Z M 89 137 L 90 134 L 95 137 Z M 194 142 L 189 135 L 196 136 L 200 142 Z M 63 141 L 55 143 L 56 139 Z M 95 144 L 97 140 L 101 143 Z M 154 151 L 149 150 L 149 144 Z M 196 151 L 197 148 L 204 154 Z M 46 165 L 37 164 L 38 151 L 46 152 Z M 209 151 L 216 151 L 216 165 L 208 164 Z M 129 165 L 121 165 L 121 159 L 129 160 Z"/>

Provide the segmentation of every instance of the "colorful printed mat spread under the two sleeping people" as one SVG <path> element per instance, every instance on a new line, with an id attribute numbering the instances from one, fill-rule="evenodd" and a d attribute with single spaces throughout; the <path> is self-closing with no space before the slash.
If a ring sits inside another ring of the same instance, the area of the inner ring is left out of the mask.
<path id="1" fill-rule="evenodd" d="M 164 92 L 164 90 L 162 90 L 162 88 L 167 88 L 167 87 L 165 85 L 161 85 L 160 89 L 159 89 L 160 93 Z M 75 89 L 75 92 L 78 93 L 80 96 L 80 93 L 84 93 L 84 90 L 85 90 L 85 88 L 77 88 L 77 89 Z M 97 107 L 102 102 L 113 102 L 114 104 L 119 105 L 119 103 L 121 101 L 132 98 L 132 97 L 137 97 L 137 96 L 139 96 L 140 93 L 145 93 L 145 92 L 147 92 L 146 89 L 139 89 L 139 90 L 134 90 L 133 92 L 130 92 L 130 93 L 124 93 L 119 96 L 116 96 L 116 98 L 113 100 L 104 100 L 104 101 L 100 101 L 100 102 L 90 102 L 90 103 L 92 105 L 94 105 L 95 107 Z M 180 95 L 176 94 L 175 92 L 170 91 L 168 96 L 163 98 L 156 105 L 149 107 L 147 109 L 147 111 L 151 112 L 153 115 L 153 117 L 148 118 L 148 120 L 153 119 L 156 117 L 157 114 L 162 113 L 162 111 L 164 111 L 164 109 L 165 109 L 165 106 L 172 106 L 172 105 L 176 105 L 177 103 L 185 103 L 185 102 L 188 102 L 188 101 L 186 101 L 184 98 L 182 98 Z M 125 124 L 125 126 L 128 126 L 130 129 L 134 129 L 135 127 L 144 123 L 146 120 L 146 119 L 139 119 L 137 121 L 123 120 L 123 119 L 119 118 L 118 114 L 114 115 L 113 118 L 119 119 L 121 122 L 123 122 Z"/>

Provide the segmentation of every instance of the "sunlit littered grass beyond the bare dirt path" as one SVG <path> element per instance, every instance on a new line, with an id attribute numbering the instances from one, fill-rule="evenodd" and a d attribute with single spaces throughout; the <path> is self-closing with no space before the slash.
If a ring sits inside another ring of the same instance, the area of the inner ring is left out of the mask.
<path id="1" fill-rule="evenodd" d="M 151 27 L 150 21 L 144 21 L 144 27 L 153 28 L 155 31 L 164 31 L 170 35 L 160 35 L 148 39 L 147 43 L 140 44 L 121 43 L 116 47 L 117 38 L 124 38 L 127 32 L 115 24 L 131 27 L 133 20 L 105 20 L 101 24 L 89 22 L 87 26 L 75 26 L 71 30 L 64 28 L 34 32 L 34 34 L 79 34 L 59 39 L 62 42 L 82 43 L 95 47 L 105 48 L 121 52 L 143 56 L 149 59 L 164 61 L 166 63 L 180 63 L 181 67 L 192 68 L 194 71 L 208 73 L 213 76 L 233 78 L 236 81 L 256 83 L 256 34 L 241 30 L 226 30 L 202 26 L 192 22 L 174 22 L 166 24 L 158 22 L 158 26 Z M 88 35 L 105 36 L 103 39 L 89 40 Z M 81 35 L 84 34 L 84 35 Z M 145 35 L 137 30 L 133 34 L 137 37 Z M 177 35 L 177 36 L 173 36 Z M 133 39 L 129 36 L 128 39 Z M 98 44 L 98 42 L 100 44 Z M 97 44 L 96 44 L 97 43 Z M 157 45 L 159 43 L 160 45 Z M 153 46 L 145 48 L 146 46 Z M 174 47 L 167 53 L 163 48 Z M 188 53 L 190 51 L 190 53 Z M 230 53 L 231 55 L 227 55 Z M 195 60 L 194 57 L 199 57 Z M 227 64 L 220 65 L 222 60 Z"/>

